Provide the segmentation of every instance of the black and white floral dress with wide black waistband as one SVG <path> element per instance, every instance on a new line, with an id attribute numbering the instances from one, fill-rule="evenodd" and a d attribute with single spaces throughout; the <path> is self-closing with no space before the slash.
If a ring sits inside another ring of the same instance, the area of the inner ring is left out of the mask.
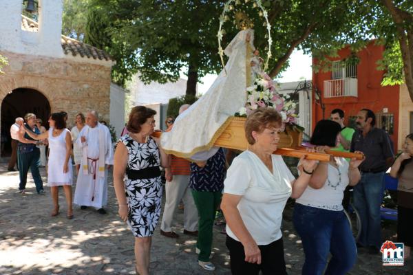
<path id="1" fill-rule="evenodd" d="M 120 141 L 128 151 L 125 173 L 128 223 L 134 236 L 151 236 L 158 224 L 162 199 L 159 148 L 151 137 L 146 143 L 138 143 L 126 134 Z"/>

